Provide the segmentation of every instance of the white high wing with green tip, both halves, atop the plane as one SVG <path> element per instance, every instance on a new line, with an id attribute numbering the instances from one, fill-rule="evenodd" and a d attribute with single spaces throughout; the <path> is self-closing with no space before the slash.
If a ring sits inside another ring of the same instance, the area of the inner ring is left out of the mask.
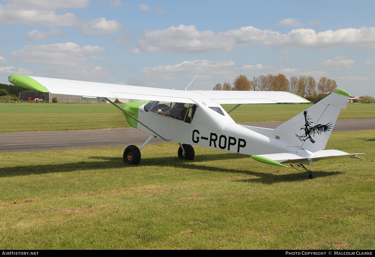
<path id="1" fill-rule="evenodd" d="M 99 82 L 75 81 L 24 75 L 10 75 L 8 81 L 14 85 L 31 90 L 54 94 L 71 94 L 107 98 L 126 98 L 135 100 L 156 100 L 163 102 L 195 103 L 186 96 L 184 90 L 139 87 Z M 205 91 L 196 90 L 219 104 L 242 103 L 308 103 L 295 94 L 274 91 Z"/>

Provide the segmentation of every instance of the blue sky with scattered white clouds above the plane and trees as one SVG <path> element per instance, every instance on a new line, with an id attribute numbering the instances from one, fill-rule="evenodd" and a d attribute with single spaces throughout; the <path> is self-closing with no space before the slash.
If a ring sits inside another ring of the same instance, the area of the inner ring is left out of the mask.
<path id="1" fill-rule="evenodd" d="M 237 75 L 375 96 L 373 1 L 0 1 L 0 82 L 21 74 L 212 90 Z"/>

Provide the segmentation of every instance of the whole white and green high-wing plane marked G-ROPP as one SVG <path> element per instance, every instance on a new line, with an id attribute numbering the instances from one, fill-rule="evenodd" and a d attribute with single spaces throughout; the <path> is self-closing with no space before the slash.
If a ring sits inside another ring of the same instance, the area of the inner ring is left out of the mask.
<path id="1" fill-rule="evenodd" d="M 345 109 L 348 104 L 350 95 L 344 90 L 336 90 L 276 129 L 265 129 L 237 124 L 229 113 L 241 104 L 309 101 L 280 91 L 171 90 L 23 75 L 10 75 L 8 81 L 42 92 L 104 97 L 124 112 L 130 126 L 151 134 L 140 148 L 126 147 L 123 160 L 128 164 L 139 164 L 140 150 L 153 137 L 179 143 L 178 158 L 181 159 L 193 160 L 192 145 L 203 146 L 248 154 L 254 160 L 276 166 L 288 167 L 285 164 L 291 163 L 293 167 L 294 163 L 306 170 L 308 178 L 312 178 L 312 172 L 305 165 L 315 161 L 342 157 L 362 159 L 357 154 L 324 150 L 340 108 Z M 149 102 L 130 102 L 121 108 L 108 98 Z M 226 112 L 220 104 L 237 106 Z"/>

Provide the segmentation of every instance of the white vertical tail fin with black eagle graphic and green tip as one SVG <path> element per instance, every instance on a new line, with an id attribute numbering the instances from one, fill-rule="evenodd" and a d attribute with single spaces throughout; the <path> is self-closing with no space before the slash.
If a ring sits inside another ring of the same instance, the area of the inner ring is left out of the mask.
<path id="1" fill-rule="evenodd" d="M 280 140 L 299 146 L 311 152 L 326 147 L 342 109 L 346 109 L 350 95 L 344 90 L 336 90 L 320 102 L 301 112 L 274 132 Z"/>

